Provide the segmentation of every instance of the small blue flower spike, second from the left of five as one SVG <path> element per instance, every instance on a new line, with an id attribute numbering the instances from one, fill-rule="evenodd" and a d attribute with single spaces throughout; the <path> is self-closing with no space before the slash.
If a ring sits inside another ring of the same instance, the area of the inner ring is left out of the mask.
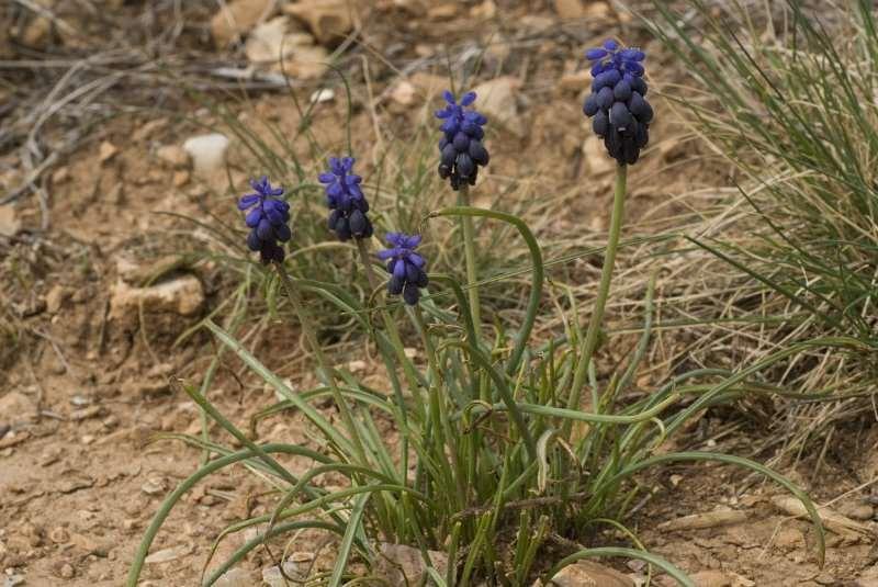
<path id="1" fill-rule="evenodd" d="M 369 221 L 369 202 L 360 183 L 362 178 L 353 173 L 352 157 L 330 157 L 329 171 L 317 178 L 326 187 L 326 205 L 331 211 L 327 225 L 339 240 L 370 238 L 372 223 Z"/>

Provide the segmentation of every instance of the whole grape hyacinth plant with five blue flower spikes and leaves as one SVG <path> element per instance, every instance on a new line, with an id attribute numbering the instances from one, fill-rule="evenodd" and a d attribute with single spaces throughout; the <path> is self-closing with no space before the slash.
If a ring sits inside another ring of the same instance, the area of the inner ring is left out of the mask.
<path id="1" fill-rule="evenodd" d="M 643 74 L 642 54 L 628 50 L 608 42 L 600 49 L 604 53 L 589 52 L 598 61 L 594 68 L 598 77 L 614 71 L 601 79 L 619 76 L 614 92 L 626 75 L 640 79 Z M 640 87 L 639 82 L 633 83 Z M 598 93 L 606 88 L 601 86 Z M 631 92 L 633 95 L 633 87 Z M 650 569 L 661 569 L 680 585 L 694 587 L 673 564 L 646 552 L 622 523 L 641 500 L 642 484 L 633 481 L 638 473 L 654 465 L 700 461 L 746 467 L 796 495 L 814 522 L 822 557 L 820 517 L 809 498 L 785 477 L 738 456 L 656 450 L 668 445 L 666 441 L 672 436 L 708 408 L 738 400 L 753 390 L 767 393 L 756 376 L 763 365 L 736 371 L 675 371 L 671 381 L 648 393 L 633 390 L 631 382 L 650 355 L 653 278 L 646 286 L 637 349 L 609 376 L 605 370 L 594 368 L 592 359 L 621 232 L 626 169 L 637 160 L 629 157 L 630 147 L 623 145 L 621 151 L 600 285 L 587 331 L 583 332 L 579 326 L 577 302 L 572 300 L 570 315 L 558 306 L 563 318 L 560 321 L 569 325 L 566 336 L 548 337 L 547 341 L 541 332 L 537 339 L 536 320 L 545 311 L 548 263 L 524 219 L 500 210 L 469 205 L 469 187 L 475 182 L 479 167 L 488 160 L 482 144 L 486 120 L 473 110 L 464 110 L 472 106 L 475 94 L 464 94 L 460 103 L 450 92 L 444 99 L 448 105 L 437 113 L 444 120 L 446 133 L 439 172 L 458 191 L 458 205 L 429 213 L 425 223 L 461 221 L 469 296 L 460 280 L 451 275 L 428 276 L 427 261 L 417 251 L 421 236 L 399 232 L 387 233 L 389 247 L 376 253 L 390 274 L 386 294 L 381 293 L 373 273 L 375 256 L 368 252 L 373 228 L 365 216 L 369 207 L 360 178 L 352 172 L 353 158 L 330 159 L 329 171 L 319 176 L 319 182 L 331 208 L 329 226 L 341 240 L 354 240 L 371 289 L 369 294 L 350 283 L 357 276 L 341 284 L 296 278 L 292 273 L 302 269 L 293 262 L 289 263 L 288 273 L 283 249 L 278 244 L 292 237 L 289 204 L 279 200 L 283 190 L 272 188 L 267 178 L 252 182 L 256 193 L 245 195 L 239 204 L 247 211 L 245 221 L 251 229 L 248 245 L 259 251 L 264 263 L 271 263 L 266 273 L 270 278 L 272 271 L 277 273 L 296 315 L 296 332 L 304 335 L 305 350 L 309 352 L 297 353 L 292 371 L 289 364 L 281 364 L 280 369 L 285 370 L 281 374 L 257 358 L 252 349 L 259 345 L 236 338 L 234 320 L 229 320 L 229 329 L 205 319 L 212 335 L 273 390 L 278 402 L 254 414 L 250 433 L 245 433 L 207 399 L 209 385 L 202 393 L 194 385 L 182 384 L 205 417 L 234 437 L 235 443 L 224 445 L 218 438 L 207 437 L 206 431 L 203 438 L 172 434 L 206 451 L 211 459 L 180 482 L 159 506 L 132 563 L 127 587 L 136 587 L 154 539 L 185 494 L 235 464 L 267 481 L 270 490 L 254 493 L 258 504 L 252 509 L 257 513 L 233 521 L 218 533 L 204 566 L 210 568 L 210 575 L 203 577 L 203 586 L 215 585 L 224 576 L 228 579 L 226 573 L 259 549 L 283 569 L 283 561 L 275 558 L 285 552 L 282 541 L 289 546 L 296 541 L 290 537 L 299 538 L 307 531 L 335 537 L 335 541 L 326 542 L 335 549 L 335 562 L 331 569 L 317 569 L 309 577 L 291 577 L 300 584 L 319 582 L 341 587 L 373 578 L 376 584 L 401 584 L 375 575 L 381 567 L 379 561 L 392 560 L 393 552 L 403 548 L 407 549 L 404 556 L 423 557 L 419 578 L 408 576 L 402 582 L 409 585 L 525 587 L 538 577 L 549 584 L 561 568 L 581 558 L 621 556 L 645 561 Z M 632 112 L 628 102 L 622 105 Z M 609 106 L 605 114 L 611 115 L 614 108 Z M 633 120 L 634 114 L 631 116 Z M 614 121 L 618 122 L 615 117 Z M 638 124 L 645 132 L 649 122 L 642 121 L 646 118 L 638 118 Z M 617 125 L 614 132 L 622 137 L 631 128 Z M 638 133 L 635 128 L 632 136 Z M 620 140 L 627 144 L 628 139 Z M 302 190 L 312 185 L 303 183 Z M 520 272 L 530 275 L 529 292 L 522 296 L 527 303 L 511 317 L 497 315 L 491 336 L 484 337 L 479 320 L 473 218 L 504 223 L 517 230 L 530 255 Z M 297 238 L 302 233 L 296 230 Z M 432 259 L 431 264 L 440 262 Z M 429 300 L 421 300 L 420 290 L 428 284 L 434 291 Z M 303 295 L 319 296 L 333 304 L 334 311 L 350 316 L 352 327 L 348 334 L 354 337 L 354 345 L 349 348 L 365 348 L 363 357 L 370 359 L 368 375 L 346 370 L 344 365 L 350 364 L 347 357 L 334 363 L 324 354 L 320 332 L 305 311 Z M 382 295 L 384 300 L 401 295 L 405 304 L 373 304 L 374 297 Z M 375 315 L 382 319 L 372 320 Z M 419 348 L 413 348 L 418 342 L 405 339 L 404 335 L 410 335 L 402 327 L 405 319 L 419 335 Z M 516 324 L 504 324 L 513 320 Z M 362 338 L 356 338 L 353 330 L 358 327 Z M 302 370 L 312 359 L 317 377 L 308 386 L 304 382 L 309 377 Z M 384 372 L 380 373 L 382 365 Z M 291 383 L 296 377 L 301 387 Z M 585 390 L 592 394 L 588 408 L 581 402 Z M 259 439 L 258 425 L 262 420 L 293 417 L 306 420 L 306 443 Z M 578 426 L 576 430 L 574 424 Z M 290 459 L 295 459 L 295 469 Z M 599 540 L 600 526 L 623 530 L 638 548 L 578 545 Z M 212 565 L 214 553 L 221 552 L 219 542 L 236 533 L 245 539 L 226 560 Z M 442 551 L 448 564 L 436 564 L 438 557 L 428 551 Z M 549 554 L 560 560 L 547 562 Z M 368 575 L 354 575 L 349 565 L 353 560 L 368 567 Z"/>

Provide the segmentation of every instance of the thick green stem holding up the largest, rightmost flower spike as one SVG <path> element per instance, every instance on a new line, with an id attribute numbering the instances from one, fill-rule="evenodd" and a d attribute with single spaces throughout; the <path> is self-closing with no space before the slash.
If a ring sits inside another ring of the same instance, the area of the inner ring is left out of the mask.
<path id="1" fill-rule="evenodd" d="M 588 330 L 585 334 L 579 351 L 579 361 L 576 364 L 576 372 L 573 375 L 573 387 L 571 388 L 570 397 L 567 399 L 567 409 L 578 409 L 579 398 L 582 396 L 582 388 L 585 384 L 585 377 L 588 374 L 588 365 L 592 362 L 592 355 L 597 348 L 598 335 L 600 334 L 600 325 L 604 320 L 604 309 L 607 305 L 607 297 L 610 293 L 610 282 L 612 281 L 612 269 L 616 264 L 616 250 L 619 248 L 619 237 L 622 232 L 622 216 L 624 215 L 624 191 L 626 180 L 628 178 L 628 167 L 620 165 L 616 168 L 616 191 L 612 196 L 612 216 L 610 217 L 610 234 L 607 242 L 607 252 L 604 257 L 604 269 L 600 272 L 600 286 L 597 292 L 597 300 L 595 301 L 595 311 L 588 319 Z M 597 406 L 593 407 L 597 409 Z M 570 432 L 570 421 L 565 422 L 564 431 L 567 436 Z"/>

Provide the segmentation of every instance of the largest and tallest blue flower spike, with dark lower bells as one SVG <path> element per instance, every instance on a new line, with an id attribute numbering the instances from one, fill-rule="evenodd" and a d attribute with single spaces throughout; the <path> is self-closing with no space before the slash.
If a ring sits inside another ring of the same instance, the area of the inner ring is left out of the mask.
<path id="1" fill-rule="evenodd" d="M 610 157 L 619 165 L 635 163 L 650 142 L 653 118 L 643 81 L 646 54 L 609 38 L 586 50 L 585 58 L 592 63 L 594 81 L 583 112 L 592 118 L 592 128 L 604 139 Z"/>

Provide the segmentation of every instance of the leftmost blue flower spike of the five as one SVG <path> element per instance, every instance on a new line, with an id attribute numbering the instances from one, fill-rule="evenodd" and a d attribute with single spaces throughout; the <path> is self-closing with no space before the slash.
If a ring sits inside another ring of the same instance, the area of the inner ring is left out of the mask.
<path id="1" fill-rule="evenodd" d="M 259 260 L 264 264 L 281 263 L 283 247 L 279 242 L 286 242 L 293 236 L 288 224 L 290 204 L 279 199 L 283 195 L 283 188 L 272 188 L 267 177 L 250 180 L 250 185 L 256 193 L 246 194 L 238 201 L 238 210 L 247 212 L 244 222 L 250 228 L 247 247 L 259 251 Z"/>

